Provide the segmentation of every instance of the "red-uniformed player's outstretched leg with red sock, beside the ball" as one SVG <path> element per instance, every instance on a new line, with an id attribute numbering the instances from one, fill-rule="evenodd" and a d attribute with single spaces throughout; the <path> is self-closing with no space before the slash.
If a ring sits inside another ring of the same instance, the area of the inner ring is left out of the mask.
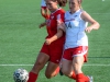
<path id="1" fill-rule="evenodd" d="M 38 57 L 32 68 L 32 70 L 29 73 L 29 81 L 28 82 L 35 82 L 37 80 L 38 72 L 44 68 L 45 63 L 48 61 L 50 56 L 40 52 Z"/>

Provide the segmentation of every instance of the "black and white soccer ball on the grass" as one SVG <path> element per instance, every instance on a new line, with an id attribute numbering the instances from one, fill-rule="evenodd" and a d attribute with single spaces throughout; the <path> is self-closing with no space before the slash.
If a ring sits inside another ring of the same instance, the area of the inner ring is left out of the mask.
<path id="1" fill-rule="evenodd" d="M 29 72 L 25 69 L 16 69 L 13 73 L 14 82 L 28 82 Z"/>

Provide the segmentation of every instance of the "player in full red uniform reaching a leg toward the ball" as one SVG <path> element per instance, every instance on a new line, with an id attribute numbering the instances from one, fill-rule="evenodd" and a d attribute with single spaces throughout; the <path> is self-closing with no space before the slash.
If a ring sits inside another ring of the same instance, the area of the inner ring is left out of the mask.
<path id="1" fill-rule="evenodd" d="M 45 0 L 45 2 L 47 9 L 51 11 L 50 17 L 46 20 L 46 30 L 48 35 L 46 36 L 45 43 L 43 44 L 36 61 L 29 73 L 28 82 L 35 82 L 40 71 L 46 63 L 45 75 L 47 79 L 55 77 L 59 72 L 59 61 L 63 55 L 65 34 L 58 27 L 57 21 L 64 22 L 65 11 L 62 8 L 58 8 L 58 5 L 64 7 L 67 1 Z M 40 27 L 43 25 L 41 24 Z"/>

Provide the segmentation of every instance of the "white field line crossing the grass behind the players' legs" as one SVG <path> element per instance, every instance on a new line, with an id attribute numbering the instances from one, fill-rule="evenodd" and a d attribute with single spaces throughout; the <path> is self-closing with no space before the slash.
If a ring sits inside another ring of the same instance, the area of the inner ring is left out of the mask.
<path id="1" fill-rule="evenodd" d="M 18 67 L 18 66 L 28 66 L 28 67 L 30 67 L 30 66 L 33 66 L 33 65 L 0 65 L 0 67 Z M 47 65 L 45 65 L 45 66 L 47 66 Z M 96 63 L 96 65 L 84 65 L 84 66 L 86 66 L 86 67 L 110 67 L 110 65 L 101 65 L 101 63 Z"/>

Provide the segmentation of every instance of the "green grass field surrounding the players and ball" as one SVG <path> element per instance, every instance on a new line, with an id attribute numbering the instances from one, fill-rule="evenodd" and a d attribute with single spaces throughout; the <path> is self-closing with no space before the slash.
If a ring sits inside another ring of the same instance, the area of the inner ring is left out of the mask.
<path id="1" fill-rule="evenodd" d="M 46 31 L 38 28 L 44 21 L 40 0 L 0 0 L 0 82 L 14 82 L 18 68 L 31 70 L 44 43 Z M 82 67 L 95 82 L 110 80 L 110 0 L 84 0 L 82 8 L 100 23 L 89 37 L 89 61 Z M 66 7 L 65 10 L 68 8 Z M 41 71 L 37 82 L 75 82 L 59 74 L 51 80 Z"/>

